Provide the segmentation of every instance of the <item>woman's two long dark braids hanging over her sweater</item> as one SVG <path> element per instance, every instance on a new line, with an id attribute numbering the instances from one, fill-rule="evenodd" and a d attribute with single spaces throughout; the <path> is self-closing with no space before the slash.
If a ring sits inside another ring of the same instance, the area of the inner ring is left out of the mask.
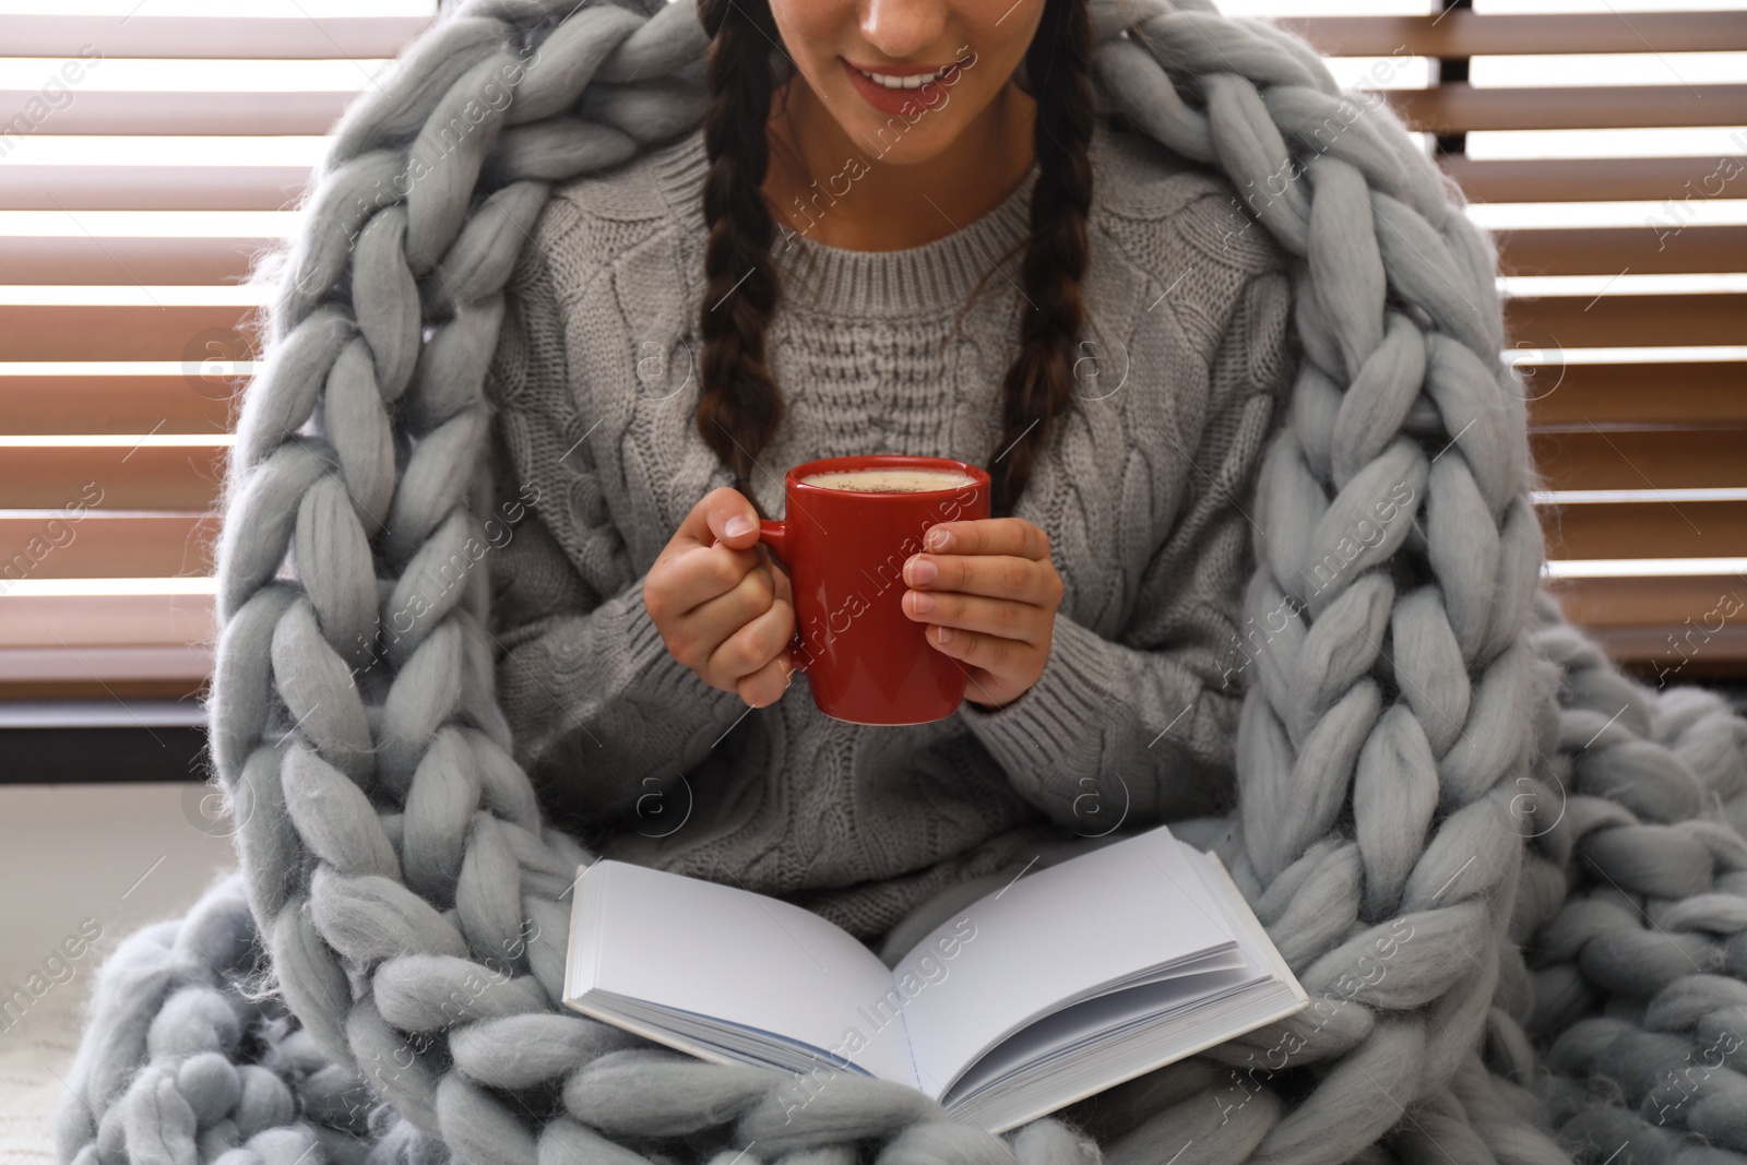
<path id="1" fill-rule="evenodd" d="M 704 147 L 702 391 L 697 430 L 748 489 L 760 449 L 783 419 L 783 396 L 765 360 L 765 327 L 781 288 L 770 259 L 776 224 L 763 199 L 770 161 L 767 122 L 776 82 L 770 54 L 781 44 L 769 0 L 699 0 L 711 37 Z M 991 514 L 1012 514 L 1052 431 L 1073 405 L 1073 355 L 1085 323 L 1080 286 L 1087 271 L 1092 204 L 1092 19 L 1087 0 L 1045 0 L 1025 51 L 1025 89 L 1038 101 L 1032 148 L 1038 182 L 1020 264 L 1025 309 L 1019 353 L 1001 386 L 1001 431 L 987 454 Z M 987 272 L 985 272 L 987 274 Z"/>

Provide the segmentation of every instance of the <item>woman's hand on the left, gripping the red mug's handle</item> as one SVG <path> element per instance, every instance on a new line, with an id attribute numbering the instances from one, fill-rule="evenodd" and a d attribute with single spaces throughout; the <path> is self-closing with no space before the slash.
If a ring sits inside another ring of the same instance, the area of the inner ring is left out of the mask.
<path id="1" fill-rule="evenodd" d="M 741 519 L 730 534 L 728 522 Z M 788 690 L 795 603 L 741 493 L 723 486 L 692 507 L 650 566 L 643 604 L 673 657 L 711 688 L 753 707 Z"/>

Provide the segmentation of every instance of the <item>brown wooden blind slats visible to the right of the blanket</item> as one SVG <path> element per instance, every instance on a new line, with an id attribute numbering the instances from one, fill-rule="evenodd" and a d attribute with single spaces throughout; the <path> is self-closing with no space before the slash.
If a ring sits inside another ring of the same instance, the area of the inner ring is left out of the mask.
<path id="1" fill-rule="evenodd" d="M 1499 243 L 1567 615 L 1661 683 L 1747 672 L 1747 5 L 1527 7 L 1279 23 L 1434 61 L 1382 96 Z"/>

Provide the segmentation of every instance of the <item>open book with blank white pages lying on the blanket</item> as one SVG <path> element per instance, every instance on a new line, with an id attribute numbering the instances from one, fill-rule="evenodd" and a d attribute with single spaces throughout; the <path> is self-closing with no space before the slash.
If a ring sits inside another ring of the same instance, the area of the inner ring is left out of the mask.
<path id="1" fill-rule="evenodd" d="M 894 968 L 791 903 L 601 859 L 564 1004 L 720 1064 L 912 1085 L 1005 1132 L 1310 1001 L 1212 854 L 1167 826 L 1022 873 Z M 781 1093 L 779 1093 L 781 1095 Z"/>

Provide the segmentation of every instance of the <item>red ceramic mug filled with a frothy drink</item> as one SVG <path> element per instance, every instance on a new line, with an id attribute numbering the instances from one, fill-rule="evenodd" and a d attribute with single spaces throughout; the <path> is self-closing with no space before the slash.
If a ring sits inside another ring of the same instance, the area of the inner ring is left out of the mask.
<path id="1" fill-rule="evenodd" d="M 971 484 L 875 493 L 802 480 L 851 470 L 935 470 Z M 924 638 L 928 624 L 903 613 L 903 564 L 929 526 L 989 517 L 989 473 L 950 458 L 863 454 L 797 465 L 783 489 L 784 517 L 765 520 L 758 538 L 788 568 L 790 658 L 812 702 L 858 725 L 921 725 L 957 711 L 968 671 Z"/>

